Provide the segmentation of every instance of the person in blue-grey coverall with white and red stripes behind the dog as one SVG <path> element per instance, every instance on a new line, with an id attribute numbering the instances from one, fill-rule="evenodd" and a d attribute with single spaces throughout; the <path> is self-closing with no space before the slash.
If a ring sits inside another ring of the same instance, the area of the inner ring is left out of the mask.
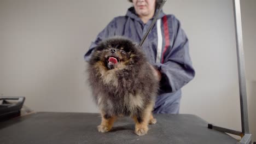
<path id="1" fill-rule="evenodd" d="M 133 7 L 127 10 L 126 15 L 115 17 L 97 35 L 84 55 L 85 61 L 89 61 L 98 43 L 114 35 L 123 35 L 135 43 L 140 43 L 162 1 L 130 2 L 133 3 Z M 159 95 L 153 113 L 179 113 L 181 88 L 195 76 L 189 55 L 188 38 L 179 20 L 174 15 L 166 15 L 161 10 L 152 31 L 144 41 L 142 50 L 161 75 Z"/>

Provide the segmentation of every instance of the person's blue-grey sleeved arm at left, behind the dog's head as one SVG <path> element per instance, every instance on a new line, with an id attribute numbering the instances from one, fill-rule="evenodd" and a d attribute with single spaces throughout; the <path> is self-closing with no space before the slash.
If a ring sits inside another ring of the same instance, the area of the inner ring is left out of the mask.
<path id="1" fill-rule="evenodd" d="M 117 21 L 113 19 L 108 23 L 108 25 L 97 35 L 96 40 L 91 43 L 89 50 L 85 53 L 84 59 L 86 62 L 90 61 L 91 54 L 94 48 L 104 39 L 112 37 L 115 35 L 115 30 L 117 29 Z"/>

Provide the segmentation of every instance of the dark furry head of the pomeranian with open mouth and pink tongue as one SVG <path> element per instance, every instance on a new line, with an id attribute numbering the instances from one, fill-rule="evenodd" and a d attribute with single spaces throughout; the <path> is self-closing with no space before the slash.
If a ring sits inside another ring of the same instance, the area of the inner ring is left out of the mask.
<path id="1" fill-rule="evenodd" d="M 108 70 L 139 61 L 139 52 L 129 39 L 111 38 L 100 43 L 92 55 L 91 64 L 101 62 Z M 103 65 L 102 65 L 103 66 Z"/>

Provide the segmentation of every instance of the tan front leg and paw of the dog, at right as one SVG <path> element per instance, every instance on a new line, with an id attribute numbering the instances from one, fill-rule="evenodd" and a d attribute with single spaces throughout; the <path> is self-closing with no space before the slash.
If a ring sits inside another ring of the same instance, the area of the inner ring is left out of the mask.
<path id="1" fill-rule="evenodd" d="M 150 119 L 150 113 L 153 109 L 153 105 L 150 104 L 148 105 L 148 107 L 146 108 L 146 110 L 143 112 L 143 116 L 142 116 L 142 122 L 138 122 L 138 117 L 134 116 L 133 119 L 135 121 L 135 134 L 141 136 L 141 135 L 145 135 L 148 132 L 148 123 L 149 123 L 149 119 Z"/>

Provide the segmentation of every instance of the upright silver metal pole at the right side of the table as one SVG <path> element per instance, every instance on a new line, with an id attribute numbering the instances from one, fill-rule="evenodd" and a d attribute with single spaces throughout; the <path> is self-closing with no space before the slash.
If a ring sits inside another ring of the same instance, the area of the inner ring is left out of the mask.
<path id="1" fill-rule="evenodd" d="M 239 80 L 239 92 L 240 92 L 242 133 L 249 134 L 247 98 L 246 98 L 245 58 L 243 53 L 240 0 L 234 0 L 233 4 L 234 4 L 234 18 L 235 18 L 235 28 L 236 28 L 236 52 L 237 52 L 238 80 Z"/>

